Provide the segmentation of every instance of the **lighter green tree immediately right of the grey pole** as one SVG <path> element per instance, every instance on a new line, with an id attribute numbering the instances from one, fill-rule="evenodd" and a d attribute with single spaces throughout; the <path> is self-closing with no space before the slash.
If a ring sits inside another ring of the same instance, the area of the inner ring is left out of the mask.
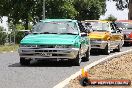
<path id="1" fill-rule="evenodd" d="M 74 0 L 46 0 L 46 18 L 75 19 L 77 11 L 73 2 Z"/>

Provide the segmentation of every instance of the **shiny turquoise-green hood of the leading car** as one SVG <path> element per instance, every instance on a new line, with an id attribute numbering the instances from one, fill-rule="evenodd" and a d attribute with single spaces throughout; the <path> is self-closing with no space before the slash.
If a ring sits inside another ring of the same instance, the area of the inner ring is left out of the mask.
<path id="1" fill-rule="evenodd" d="M 68 34 L 30 34 L 21 40 L 21 44 L 74 44 L 79 35 Z"/>

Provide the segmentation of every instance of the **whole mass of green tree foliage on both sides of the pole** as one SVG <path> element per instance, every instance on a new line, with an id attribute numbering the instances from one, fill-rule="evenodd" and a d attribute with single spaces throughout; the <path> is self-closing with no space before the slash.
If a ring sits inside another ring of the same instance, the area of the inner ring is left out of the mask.
<path id="1" fill-rule="evenodd" d="M 98 19 L 105 13 L 106 0 L 45 0 L 46 18 Z M 43 0 L 0 0 L 0 16 L 8 22 L 35 24 L 43 17 Z"/>

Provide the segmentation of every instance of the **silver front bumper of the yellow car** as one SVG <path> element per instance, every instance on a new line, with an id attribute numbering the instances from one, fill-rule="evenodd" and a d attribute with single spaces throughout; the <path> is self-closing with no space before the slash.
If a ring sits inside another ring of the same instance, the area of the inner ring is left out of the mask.
<path id="1" fill-rule="evenodd" d="M 107 41 L 91 40 L 91 49 L 105 49 L 107 44 Z"/>

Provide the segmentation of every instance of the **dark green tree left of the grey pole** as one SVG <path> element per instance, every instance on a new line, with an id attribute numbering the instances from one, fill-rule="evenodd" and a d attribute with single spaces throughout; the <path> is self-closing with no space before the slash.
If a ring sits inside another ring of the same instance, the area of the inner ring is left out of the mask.
<path id="1" fill-rule="evenodd" d="M 0 1 L 0 16 L 7 16 L 8 22 L 14 25 L 19 24 L 19 21 L 22 20 L 25 29 L 28 29 L 29 22 L 33 22 L 36 19 L 34 10 L 36 9 L 36 4 L 39 3 L 37 1 L 2 0 Z"/>

